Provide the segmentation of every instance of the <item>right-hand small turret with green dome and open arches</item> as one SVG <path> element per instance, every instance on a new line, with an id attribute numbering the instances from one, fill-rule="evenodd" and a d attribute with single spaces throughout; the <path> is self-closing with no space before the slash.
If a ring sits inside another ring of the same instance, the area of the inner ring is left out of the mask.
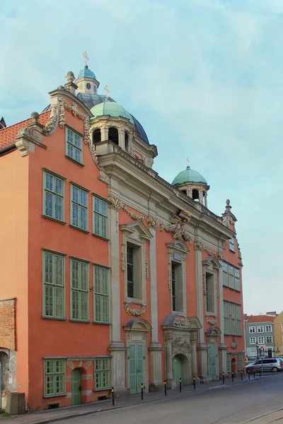
<path id="1" fill-rule="evenodd" d="M 191 199 L 199 201 L 207 207 L 209 185 L 200 172 L 192 170 L 190 166 L 187 166 L 185 170 L 179 172 L 173 179 L 172 185 L 187 194 Z"/>

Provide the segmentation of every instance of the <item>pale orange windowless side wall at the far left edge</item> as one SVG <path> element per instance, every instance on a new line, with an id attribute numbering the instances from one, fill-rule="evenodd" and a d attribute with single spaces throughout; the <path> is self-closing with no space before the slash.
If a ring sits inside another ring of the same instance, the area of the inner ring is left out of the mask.
<path id="1" fill-rule="evenodd" d="M 28 157 L 18 150 L 1 157 L 0 299 L 16 298 L 16 385 L 27 395 L 28 178 Z"/>

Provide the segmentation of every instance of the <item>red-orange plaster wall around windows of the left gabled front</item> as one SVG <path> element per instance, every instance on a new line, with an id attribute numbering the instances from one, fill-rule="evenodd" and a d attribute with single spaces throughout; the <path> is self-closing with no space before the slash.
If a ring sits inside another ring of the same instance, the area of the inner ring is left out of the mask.
<path id="1" fill-rule="evenodd" d="M 83 121 L 66 112 L 66 124 L 83 134 Z M 98 179 L 99 170 L 91 157 L 88 145 L 83 143 L 83 165 L 65 157 L 65 129 L 57 130 L 52 136 L 44 137 L 47 149 L 36 146 L 35 154 L 30 153 L 29 217 L 28 217 L 28 269 L 29 269 L 29 405 L 32 409 L 44 407 L 42 399 L 44 387 L 44 356 L 87 356 L 109 355 L 110 326 L 93 324 L 93 263 L 108 266 L 108 241 L 92 235 L 93 208 L 92 193 L 108 199 L 108 186 Z M 66 178 L 64 182 L 64 221 L 65 224 L 42 217 L 43 168 Z M 88 192 L 88 230 L 83 232 L 71 228 L 71 185 L 74 182 Z M 42 249 L 50 249 L 66 254 L 65 257 L 65 317 L 66 321 L 42 318 Z M 89 323 L 71 322 L 70 312 L 70 257 L 90 262 L 90 303 Z M 68 368 L 68 367 L 67 367 Z M 71 370 L 70 370 L 71 371 Z M 84 382 L 89 384 L 89 382 Z M 68 384 L 67 384 L 68 386 Z M 93 388 L 93 387 L 92 387 Z M 71 391 L 67 387 L 67 391 Z M 83 389 L 88 389 L 83 387 Z M 56 401 L 56 397 L 50 399 Z M 96 395 L 88 396 L 88 401 L 96 400 Z M 66 396 L 61 406 L 69 404 Z"/>

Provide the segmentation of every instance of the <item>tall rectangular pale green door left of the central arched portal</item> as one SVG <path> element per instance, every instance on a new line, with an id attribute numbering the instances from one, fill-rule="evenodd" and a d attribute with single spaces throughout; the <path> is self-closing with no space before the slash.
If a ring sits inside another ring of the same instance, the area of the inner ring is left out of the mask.
<path id="1" fill-rule="evenodd" d="M 144 343 L 129 343 L 129 392 L 140 393 L 144 383 Z"/>

